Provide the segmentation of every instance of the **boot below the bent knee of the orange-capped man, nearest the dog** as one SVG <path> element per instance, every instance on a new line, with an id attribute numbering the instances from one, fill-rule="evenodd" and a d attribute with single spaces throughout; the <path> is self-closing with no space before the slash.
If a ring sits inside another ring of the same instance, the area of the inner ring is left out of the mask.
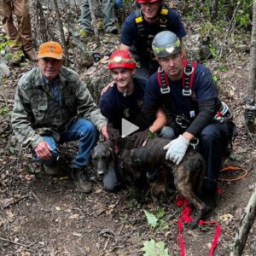
<path id="1" fill-rule="evenodd" d="M 90 179 L 87 176 L 86 168 L 72 167 L 71 177 L 73 178 L 73 183 L 77 186 L 80 192 L 90 193 L 92 190 L 92 185 Z"/>

